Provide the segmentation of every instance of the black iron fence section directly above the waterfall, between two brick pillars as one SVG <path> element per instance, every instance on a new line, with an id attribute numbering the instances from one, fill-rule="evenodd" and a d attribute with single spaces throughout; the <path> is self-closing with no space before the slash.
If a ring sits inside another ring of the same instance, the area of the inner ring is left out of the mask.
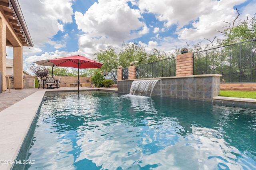
<path id="1" fill-rule="evenodd" d="M 176 57 L 136 66 L 136 78 L 176 76 Z"/>

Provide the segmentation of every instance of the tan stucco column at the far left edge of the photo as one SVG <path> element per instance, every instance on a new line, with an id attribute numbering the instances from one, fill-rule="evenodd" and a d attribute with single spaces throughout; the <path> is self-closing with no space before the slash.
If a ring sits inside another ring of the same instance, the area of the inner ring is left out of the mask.
<path id="1" fill-rule="evenodd" d="M 0 17 L 0 71 L 2 72 L 2 92 L 7 90 L 6 85 L 6 23 Z"/>

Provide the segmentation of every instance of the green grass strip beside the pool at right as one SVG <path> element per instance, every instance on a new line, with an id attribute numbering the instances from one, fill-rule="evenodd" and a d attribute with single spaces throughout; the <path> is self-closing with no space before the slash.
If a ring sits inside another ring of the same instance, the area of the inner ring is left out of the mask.
<path id="1" fill-rule="evenodd" d="M 219 96 L 256 99 L 256 92 L 242 92 L 242 91 L 225 91 L 225 90 L 220 90 Z"/>

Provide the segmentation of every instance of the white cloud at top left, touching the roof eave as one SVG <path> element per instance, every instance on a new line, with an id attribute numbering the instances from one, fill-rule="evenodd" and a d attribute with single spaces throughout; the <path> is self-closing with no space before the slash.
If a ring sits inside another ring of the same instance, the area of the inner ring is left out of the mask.
<path id="1" fill-rule="evenodd" d="M 19 0 L 35 46 L 43 46 L 72 22 L 72 0 Z"/>

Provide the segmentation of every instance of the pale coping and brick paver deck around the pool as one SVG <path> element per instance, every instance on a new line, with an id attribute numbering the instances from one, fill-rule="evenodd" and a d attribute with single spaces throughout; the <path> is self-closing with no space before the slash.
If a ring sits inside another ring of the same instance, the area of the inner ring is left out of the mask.
<path id="1" fill-rule="evenodd" d="M 10 170 L 13 162 L 34 120 L 45 92 L 47 91 L 75 91 L 77 88 L 60 89 L 22 89 L 11 90 L 0 94 L 0 170 Z M 84 90 L 108 90 L 117 92 L 113 88 L 88 88 Z M 215 97 L 215 100 L 228 100 L 256 104 L 256 99 Z M 6 104 L 8 103 L 8 104 Z M 33 160 L 29 160 L 33 163 Z M 23 163 L 23 162 L 18 162 Z M 36 162 L 34 162 L 36 164 Z"/>

